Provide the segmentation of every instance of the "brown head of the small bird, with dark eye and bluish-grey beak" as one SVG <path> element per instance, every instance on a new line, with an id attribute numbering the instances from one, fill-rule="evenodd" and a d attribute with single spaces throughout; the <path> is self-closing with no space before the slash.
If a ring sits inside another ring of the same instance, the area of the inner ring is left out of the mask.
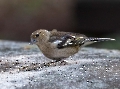
<path id="1" fill-rule="evenodd" d="M 50 37 L 50 32 L 45 29 L 40 29 L 34 31 L 30 38 L 31 38 L 31 44 L 39 44 L 43 43 L 49 40 Z"/>

